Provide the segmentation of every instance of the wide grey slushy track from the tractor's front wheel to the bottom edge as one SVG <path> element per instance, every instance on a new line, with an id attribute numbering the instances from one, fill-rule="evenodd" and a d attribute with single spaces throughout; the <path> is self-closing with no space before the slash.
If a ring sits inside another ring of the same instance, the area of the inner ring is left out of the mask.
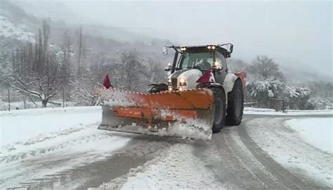
<path id="1" fill-rule="evenodd" d="M 277 189 L 273 175 L 242 147 L 235 129 L 226 127 L 213 136 L 220 157 L 213 167 L 216 175 L 232 189 Z"/>

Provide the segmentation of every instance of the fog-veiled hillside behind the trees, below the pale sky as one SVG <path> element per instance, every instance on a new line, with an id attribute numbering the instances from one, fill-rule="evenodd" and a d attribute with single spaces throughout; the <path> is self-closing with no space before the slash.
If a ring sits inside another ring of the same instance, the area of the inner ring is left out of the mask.
<path id="1" fill-rule="evenodd" d="M 122 27 L 87 23 L 79 15 L 73 13 L 70 8 L 57 1 L 48 1 L 47 4 L 43 4 L 41 1 L 13 1 L 13 4 L 8 1 L 1 1 L 0 5 L 0 16 L 2 16 L 0 24 L 2 22 L 2 25 L 4 25 L 3 28 L 0 25 L 0 35 L 2 32 L 2 36 L 5 37 L 9 35 L 8 30 L 14 30 L 12 37 L 15 39 L 33 39 L 33 34 L 37 33 L 41 20 L 46 19 L 51 23 L 54 42 L 61 38 L 63 31 L 77 30 L 81 26 L 87 37 L 86 43 L 92 49 L 98 49 L 98 51 L 110 55 L 116 55 L 120 51 L 138 51 L 141 56 L 150 56 L 164 64 L 171 61 L 170 58 L 161 56 L 161 49 L 162 46 L 170 45 L 172 42 L 161 39 L 159 37 L 160 33 L 153 29 L 148 32 L 145 30 L 149 29 L 143 30 L 141 28 L 136 33 Z M 13 27 L 13 29 L 8 26 Z M 165 36 L 163 33 L 160 35 Z M 235 46 L 235 51 L 237 51 L 237 48 Z M 237 52 L 235 54 L 236 56 L 233 56 L 235 59 L 243 58 L 244 63 L 247 64 L 252 62 L 252 58 L 249 56 L 243 56 Z M 259 51 L 258 54 L 261 54 L 261 52 Z M 319 74 L 315 65 L 304 66 L 296 58 L 273 56 L 273 60 L 280 65 L 288 83 L 294 84 L 315 80 L 332 81 L 332 76 Z M 230 61 L 230 63 L 233 64 L 233 61 Z M 233 67 L 231 64 L 230 67 Z M 242 67 L 239 69 L 242 69 Z"/>

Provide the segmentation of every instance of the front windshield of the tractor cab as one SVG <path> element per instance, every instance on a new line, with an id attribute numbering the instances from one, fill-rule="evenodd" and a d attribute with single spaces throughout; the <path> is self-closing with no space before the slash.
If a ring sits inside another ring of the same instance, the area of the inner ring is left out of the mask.
<path id="1" fill-rule="evenodd" d="M 179 69 L 198 68 L 200 70 L 209 70 L 214 63 L 214 53 L 209 52 L 185 52 L 179 63 Z"/>

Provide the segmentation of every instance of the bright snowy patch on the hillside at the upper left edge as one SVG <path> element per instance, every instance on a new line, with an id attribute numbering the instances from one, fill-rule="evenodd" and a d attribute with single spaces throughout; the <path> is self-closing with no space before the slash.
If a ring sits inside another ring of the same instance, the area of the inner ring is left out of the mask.
<path id="1" fill-rule="evenodd" d="M 22 41 L 34 42 L 34 34 L 25 32 L 25 25 L 13 25 L 6 17 L 0 15 L 0 36 Z"/>

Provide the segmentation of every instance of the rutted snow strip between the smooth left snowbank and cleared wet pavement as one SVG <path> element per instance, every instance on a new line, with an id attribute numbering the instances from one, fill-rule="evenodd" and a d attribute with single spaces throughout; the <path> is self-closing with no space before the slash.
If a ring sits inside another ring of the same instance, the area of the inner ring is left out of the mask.
<path id="1" fill-rule="evenodd" d="M 77 132 L 62 134 L 55 138 L 46 138 L 34 144 L 25 145 L 23 150 L 5 158 L 0 163 L 0 189 L 25 182 L 36 184 L 39 178 L 47 175 L 63 175 L 65 170 L 86 165 L 112 155 L 112 151 L 121 148 L 132 137 L 115 137 L 110 132 L 86 127 Z M 22 143 L 25 144 L 25 143 Z M 103 145 L 114 144 L 110 147 Z M 29 154 L 30 153 L 30 154 Z M 30 182 L 31 180 L 31 182 Z M 53 180 L 53 179 L 52 179 Z M 48 181 L 48 180 L 44 180 Z M 38 182 L 44 184 L 44 182 Z"/>

